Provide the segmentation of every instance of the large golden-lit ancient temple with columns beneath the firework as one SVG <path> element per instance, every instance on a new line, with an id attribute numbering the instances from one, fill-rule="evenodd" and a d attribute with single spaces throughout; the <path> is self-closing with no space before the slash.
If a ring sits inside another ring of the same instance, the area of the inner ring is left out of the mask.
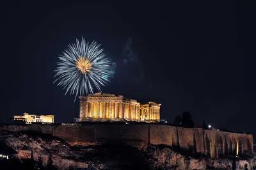
<path id="1" fill-rule="evenodd" d="M 160 120 L 161 104 L 155 102 L 140 104 L 137 100 L 106 93 L 95 93 L 79 99 L 79 121 Z"/>

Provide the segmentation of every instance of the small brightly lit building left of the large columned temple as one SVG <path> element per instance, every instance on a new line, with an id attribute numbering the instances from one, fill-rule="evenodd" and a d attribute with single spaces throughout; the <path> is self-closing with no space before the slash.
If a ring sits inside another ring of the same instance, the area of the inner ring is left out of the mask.
<path id="1" fill-rule="evenodd" d="M 24 113 L 22 116 L 13 116 L 13 122 L 24 122 L 26 124 L 31 123 L 54 123 L 54 115 L 36 115 Z"/>

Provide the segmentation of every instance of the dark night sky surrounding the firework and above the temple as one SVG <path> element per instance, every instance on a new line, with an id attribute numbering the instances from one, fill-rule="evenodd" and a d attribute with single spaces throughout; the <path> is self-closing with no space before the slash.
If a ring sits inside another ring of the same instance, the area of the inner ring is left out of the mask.
<path id="1" fill-rule="evenodd" d="M 162 104 L 173 122 L 256 134 L 255 4 L 236 1 L 1 3 L 1 121 L 13 114 L 77 117 L 79 102 L 52 84 L 76 38 L 102 43 L 116 64 L 106 93 Z"/>

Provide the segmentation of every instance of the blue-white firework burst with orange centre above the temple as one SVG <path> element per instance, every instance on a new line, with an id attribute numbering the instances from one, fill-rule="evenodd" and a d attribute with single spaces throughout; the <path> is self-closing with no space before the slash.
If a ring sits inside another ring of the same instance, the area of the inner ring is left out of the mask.
<path id="1" fill-rule="evenodd" d="M 97 42 L 89 43 L 84 38 L 81 42 L 76 40 L 58 58 L 54 75 L 58 78 L 54 82 L 66 89 L 65 95 L 68 91 L 76 97 L 93 93 L 95 88 L 101 91 L 112 75 L 111 61 Z"/>

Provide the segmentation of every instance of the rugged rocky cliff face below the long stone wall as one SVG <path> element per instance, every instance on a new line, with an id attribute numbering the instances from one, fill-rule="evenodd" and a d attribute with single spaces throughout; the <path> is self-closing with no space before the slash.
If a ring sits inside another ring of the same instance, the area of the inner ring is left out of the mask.
<path id="1" fill-rule="evenodd" d="M 33 159 L 35 165 L 42 162 L 43 166 L 52 164 L 58 169 L 232 169 L 230 159 L 191 157 L 164 146 L 134 148 L 118 141 L 101 146 L 70 146 L 51 135 L 28 132 L 1 132 L 0 135 L 0 141 L 16 150 L 15 157 L 21 162 Z M 255 165 L 254 158 L 237 161 L 237 169 Z"/>

